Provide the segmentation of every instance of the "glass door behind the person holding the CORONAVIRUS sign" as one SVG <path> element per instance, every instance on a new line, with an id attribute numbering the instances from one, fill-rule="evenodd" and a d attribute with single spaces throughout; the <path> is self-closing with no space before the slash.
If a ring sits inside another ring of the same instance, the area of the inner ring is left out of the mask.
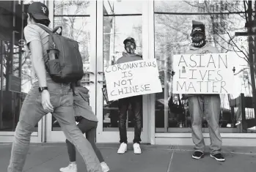
<path id="1" fill-rule="evenodd" d="M 142 55 L 142 5 L 147 1 L 98 1 L 97 2 L 97 109 L 99 119 L 97 129 L 98 143 L 118 143 L 118 100 L 107 103 L 103 97 L 106 89 L 104 68 L 116 64 L 125 52 L 123 41 L 127 37 L 136 40 L 136 52 Z M 145 38 L 144 38 L 145 39 Z M 142 142 L 148 143 L 147 96 L 143 97 Z M 127 111 L 128 142 L 134 139 L 134 114 Z"/>

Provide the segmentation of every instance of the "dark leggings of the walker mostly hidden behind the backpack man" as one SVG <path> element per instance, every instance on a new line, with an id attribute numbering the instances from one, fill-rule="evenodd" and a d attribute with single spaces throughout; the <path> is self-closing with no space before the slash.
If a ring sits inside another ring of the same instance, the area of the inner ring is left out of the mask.
<path id="1" fill-rule="evenodd" d="M 81 132 L 86 134 L 87 140 L 89 143 L 91 143 L 92 148 L 95 151 L 95 154 L 98 157 L 98 160 L 100 162 L 104 162 L 103 156 L 100 153 L 100 150 L 95 145 L 95 136 L 96 136 L 96 128 L 97 128 L 98 122 L 97 121 L 89 121 L 87 119 L 82 118 L 81 121 L 77 124 L 77 127 L 81 130 Z M 76 148 L 75 146 L 70 143 L 70 141 L 66 140 L 67 143 L 67 152 L 68 156 L 70 158 L 70 162 L 76 161 Z"/>

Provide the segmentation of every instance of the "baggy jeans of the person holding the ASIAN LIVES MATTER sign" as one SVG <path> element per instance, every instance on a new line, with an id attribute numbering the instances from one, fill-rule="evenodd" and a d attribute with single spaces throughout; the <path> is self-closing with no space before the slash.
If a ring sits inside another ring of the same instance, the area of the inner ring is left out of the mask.
<path id="1" fill-rule="evenodd" d="M 202 135 L 202 114 L 205 113 L 211 140 L 211 154 L 218 154 L 222 149 L 222 137 L 219 132 L 219 114 L 221 100 L 219 94 L 195 95 L 188 98 L 189 113 L 191 115 L 192 139 L 194 149 L 205 151 L 205 141 Z"/>

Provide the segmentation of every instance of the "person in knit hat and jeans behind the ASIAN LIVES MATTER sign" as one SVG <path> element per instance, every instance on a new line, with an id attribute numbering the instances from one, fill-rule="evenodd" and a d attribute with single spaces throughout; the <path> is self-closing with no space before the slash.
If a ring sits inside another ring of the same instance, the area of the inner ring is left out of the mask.
<path id="1" fill-rule="evenodd" d="M 219 53 L 217 48 L 206 41 L 205 25 L 193 20 L 191 31 L 192 44 L 186 54 Z M 186 94 L 189 101 L 189 113 L 191 114 L 192 139 L 195 151 L 192 157 L 200 159 L 205 151 L 205 142 L 202 135 L 202 114 L 205 113 L 208 121 L 209 134 L 211 138 L 211 154 L 215 160 L 224 161 L 221 153 L 222 137 L 219 132 L 219 114 L 221 100 L 219 94 Z"/>

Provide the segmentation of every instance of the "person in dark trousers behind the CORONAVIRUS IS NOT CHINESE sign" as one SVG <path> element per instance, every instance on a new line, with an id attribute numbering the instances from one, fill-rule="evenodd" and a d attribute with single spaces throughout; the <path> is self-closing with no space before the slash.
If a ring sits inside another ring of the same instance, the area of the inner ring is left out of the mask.
<path id="1" fill-rule="evenodd" d="M 117 64 L 142 60 L 142 56 L 135 53 L 136 42 L 134 38 L 128 37 L 124 40 L 125 52 L 122 53 L 122 57 L 117 60 Z M 118 149 L 118 154 L 123 154 L 127 151 L 127 132 L 126 132 L 126 120 L 128 106 L 131 104 L 132 111 L 134 113 L 134 154 L 141 154 L 140 149 L 140 135 L 142 132 L 142 96 L 126 97 L 118 100 L 118 108 L 120 113 L 119 120 L 119 132 L 120 132 L 120 148 Z"/>

